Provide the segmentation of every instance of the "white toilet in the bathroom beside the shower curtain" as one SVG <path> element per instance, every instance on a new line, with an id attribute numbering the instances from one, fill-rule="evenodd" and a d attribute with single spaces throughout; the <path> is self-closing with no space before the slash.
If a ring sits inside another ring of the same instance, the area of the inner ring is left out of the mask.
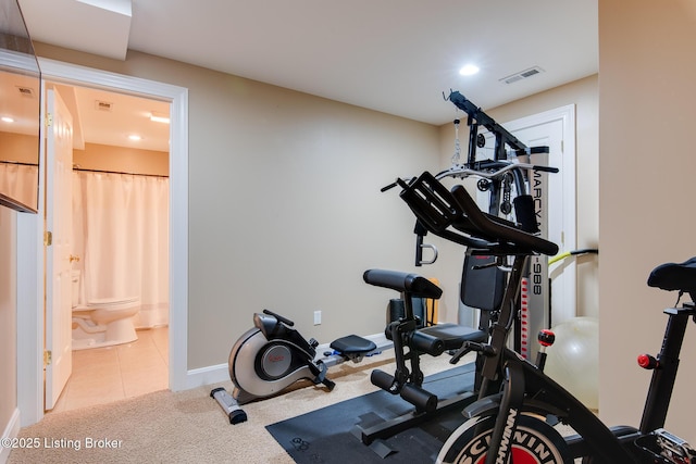
<path id="1" fill-rule="evenodd" d="M 111 347 L 138 339 L 133 316 L 140 311 L 137 297 L 89 300 L 79 304 L 80 272 L 73 271 L 73 350 Z"/>

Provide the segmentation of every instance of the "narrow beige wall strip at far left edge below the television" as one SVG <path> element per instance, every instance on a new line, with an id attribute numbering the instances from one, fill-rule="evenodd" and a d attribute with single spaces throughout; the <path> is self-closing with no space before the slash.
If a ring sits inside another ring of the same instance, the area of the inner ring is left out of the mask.
<path id="1" fill-rule="evenodd" d="M 0 428 L 17 407 L 16 216 L 0 206 Z"/>

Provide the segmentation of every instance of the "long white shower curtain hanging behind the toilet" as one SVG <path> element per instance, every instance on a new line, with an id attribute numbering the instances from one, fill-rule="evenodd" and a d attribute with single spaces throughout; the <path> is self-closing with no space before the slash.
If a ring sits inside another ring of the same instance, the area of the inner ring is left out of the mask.
<path id="1" fill-rule="evenodd" d="M 75 171 L 80 303 L 138 297 L 136 327 L 169 324 L 169 179 Z"/>

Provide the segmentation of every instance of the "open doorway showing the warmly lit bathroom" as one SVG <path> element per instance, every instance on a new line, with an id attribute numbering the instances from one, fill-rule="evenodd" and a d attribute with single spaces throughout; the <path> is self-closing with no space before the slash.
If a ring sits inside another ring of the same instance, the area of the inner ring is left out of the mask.
<path id="1" fill-rule="evenodd" d="M 72 217 L 65 240 L 72 279 L 65 280 L 73 309 L 54 308 L 59 302 L 50 296 L 58 286 L 47 287 L 47 301 L 54 303 L 47 306 L 47 328 L 59 321 L 72 325 L 64 337 L 72 347 L 55 347 L 47 338 L 53 364 L 72 366 L 70 378 L 61 384 L 55 377 L 55 385 L 48 383 L 53 376 L 47 366 L 45 409 L 63 412 L 169 387 L 170 103 L 52 81 L 46 87 L 60 97 L 73 128 L 67 172 L 73 188 L 47 197 L 53 200 L 47 201 L 48 217 L 57 216 L 58 224 Z M 59 121 L 55 108 L 51 116 L 48 140 Z M 49 181 L 52 154 L 49 149 Z M 62 197 L 70 211 L 53 209 Z M 88 309 L 97 301 L 128 299 L 133 302 L 120 306 L 137 313 L 110 325 L 97 319 L 98 325 Z M 51 318 L 59 311 L 66 317 Z M 53 327 L 47 336 L 62 331 Z"/>

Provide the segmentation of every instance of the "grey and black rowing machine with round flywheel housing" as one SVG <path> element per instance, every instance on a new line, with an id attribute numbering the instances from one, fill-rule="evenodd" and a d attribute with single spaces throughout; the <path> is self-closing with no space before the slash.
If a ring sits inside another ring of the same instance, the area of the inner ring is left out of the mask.
<path id="1" fill-rule="evenodd" d="M 229 378 L 235 388 L 229 394 L 224 388 L 210 392 L 229 417 L 231 424 L 247 419 L 240 404 L 282 393 L 293 384 L 309 379 L 330 391 L 335 384 L 326 377 L 328 367 L 346 361 L 361 362 L 365 356 L 391 348 L 390 341 L 378 346 L 357 335 L 334 340 L 333 351 L 318 355 L 316 340 L 300 335 L 295 323 L 269 310 L 253 315 L 253 328 L 236 341 L 229 353 Z"/>

